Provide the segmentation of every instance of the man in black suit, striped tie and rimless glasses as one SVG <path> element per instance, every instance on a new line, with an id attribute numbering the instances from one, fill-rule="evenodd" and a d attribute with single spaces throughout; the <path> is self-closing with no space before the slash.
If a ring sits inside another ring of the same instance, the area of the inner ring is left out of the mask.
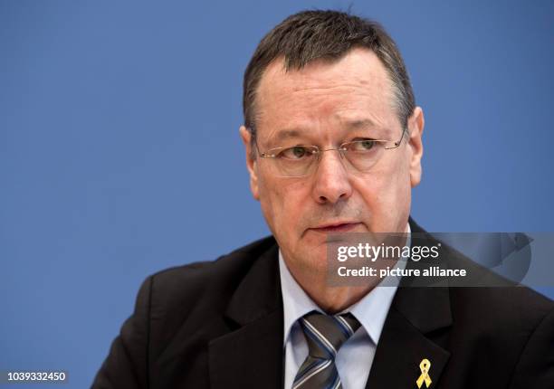
<path id="1" fill-rule="evenodd" d="M 276 26 L 245 71 L 240 128 L 272 237 L 149 277 L 93 387 L 554 387 L 554 304 L 530 289 L 326 278 L 335 232 L 435 244 L 409 219 L 424 123 L 378 24 L 308 11 Z"/>

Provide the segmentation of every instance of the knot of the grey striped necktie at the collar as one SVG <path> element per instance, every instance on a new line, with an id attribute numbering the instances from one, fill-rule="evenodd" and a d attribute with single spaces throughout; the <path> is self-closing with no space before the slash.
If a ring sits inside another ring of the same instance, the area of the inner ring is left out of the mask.
<path id="1" fill-rule="evenodd" d="M 308 343 L 308 354 L 318 359 L 334 359 L 340 346 L 360 327 L 350 313 L 330 316 L 315 310 L 303 316 L 300 324 Z"/>

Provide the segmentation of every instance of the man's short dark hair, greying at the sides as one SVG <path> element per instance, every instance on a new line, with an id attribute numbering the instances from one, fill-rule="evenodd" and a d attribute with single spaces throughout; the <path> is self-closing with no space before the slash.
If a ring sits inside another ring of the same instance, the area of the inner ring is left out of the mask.
<path id="1" fill-rule="evenodd" d="M 267 33 L 244 71 L 244 126 L 255 141 L 256 92 L 269 64 L 284 57 L 286 71 L 319 60 L 337 61 L 355 47 L 375 52 L 392 82 L 393 107 L 403 129 L 416 108 L 414 91 L 396 43 L 378 23 L 339 11 L 292 14 Z"/>

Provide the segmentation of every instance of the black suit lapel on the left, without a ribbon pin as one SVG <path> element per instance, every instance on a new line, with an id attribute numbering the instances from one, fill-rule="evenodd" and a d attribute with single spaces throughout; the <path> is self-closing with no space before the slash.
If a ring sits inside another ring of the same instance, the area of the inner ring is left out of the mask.
<path id="1" fill-rule="evenodd" d="M 209 344 L 213 389 L 282 387 L 282 294 L 277 245 L 254 261 L 227 307 L 232 328 Z"/>

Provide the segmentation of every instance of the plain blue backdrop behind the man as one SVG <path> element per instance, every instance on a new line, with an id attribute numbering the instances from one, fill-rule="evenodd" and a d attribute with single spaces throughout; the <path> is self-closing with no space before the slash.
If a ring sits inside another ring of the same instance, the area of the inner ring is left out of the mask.
<path id="1" fill-rule="evenodd" d="M 244 68 L 288 14 L 349 5 L 396 39 L 425 109 L 416 220 L 554 230 L 554 2 L 4 0 L 0 370 L 90 385 L 148 274 L 268 233 Z"/>

